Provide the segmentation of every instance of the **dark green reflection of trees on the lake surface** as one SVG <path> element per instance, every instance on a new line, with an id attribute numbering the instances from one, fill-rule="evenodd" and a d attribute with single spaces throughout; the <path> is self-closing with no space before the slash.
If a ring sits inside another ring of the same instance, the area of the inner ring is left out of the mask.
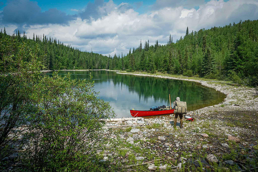
<path id="1" fill-rule="evenodd" d="M 66 71 L 61 72 L 66 73 Z M 171 94 L 172 102 L 179 96 L 182 101 L 188 103 L 188 107 L 195 107 L 194 109 L 196 109 L 222 102 L 225 98 L 224 94 L 209 87 L 203 87 L 197 82 L 121 75 L 105 70 L 91 72 L 95 83 L 113 82 L 114 87 L 121 87 L 121 89 L 123 86 L 127 86 L 129 93 L 138 95 L 139 101 L 148 102 L 148 99 L 154 99 L 154 102 L 166 102 L 168 105 L 168 94 Z M 89 77 L 89 71 L 72 71 L 72 74 L 73 79 L 86 79 Z"/>

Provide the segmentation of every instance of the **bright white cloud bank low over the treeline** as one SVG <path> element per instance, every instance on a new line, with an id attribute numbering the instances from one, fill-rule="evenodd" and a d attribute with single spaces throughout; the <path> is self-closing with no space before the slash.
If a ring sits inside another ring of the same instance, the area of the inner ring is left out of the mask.
<path id="1" fill-rule="evenodd" d="M 165 1 L 165 0 L 164 0 Z M 159 1 L 159 3 L 164 3 Z M 158 3 L 158 1 L 157 1 Z M 166 6 L 139 14 L 127 3 L 114 4 L 113 1 L 96 5 L 97 19 L 86 17 L 69 21 L 69 25 L 47 24 L 27 27 L 27 37 L 33 33 L 46 34 L 65 44 L 71 44 L 81 50 L 114 55 L 128 53 L 130 48 L 138 47 L 140 39 L 154 44 L 166 44 L 169 35 L 173 42 L 185 35 L 186 27 L 191 30 L 209 29 L 224 26 L 229 22 L 257 19 L 258 2 L 256 0 L 211 0 L 199 1 L 199 9 L 186 9 L 183 5 Z M 93 10 L 96 12 L 96 10 Z M 3 28 L 3 27 L 2 27 Z M 13 26 L 11 26 L 13 29 Z M 9 28 L 7 29 L 9 30 Z"/>

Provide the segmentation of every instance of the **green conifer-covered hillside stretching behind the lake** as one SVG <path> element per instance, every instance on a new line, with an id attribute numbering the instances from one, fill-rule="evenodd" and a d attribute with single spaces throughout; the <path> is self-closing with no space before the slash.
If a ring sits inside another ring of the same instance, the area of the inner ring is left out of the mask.
<path id="1" fill-rule="evenodd" d="M 140 42 L 126 56 L 107 57 L 93 52 L 82 52 L 53 38 L 36 35 L 27 39 L 25 33 L 9 36 L 0 33 L 0 39 L 10 38 L 17 45 L 27 43 L 36 50 L 47 69 L 111 69 L 128 71 L 156 70 L 185 76 L 211 79 L 230 79 L 234 82 L 258 84 L 258 20 L 239 21 L 224 27 L 188 31 L 176 43 L 170 37 L 168 44 L 155 45 Z M 144 44 L 144 45 L 143 45 Z M 44 55 L 44 56 L 43 56 Z M 29 60 L 29 59 L 28 59 Z"/>

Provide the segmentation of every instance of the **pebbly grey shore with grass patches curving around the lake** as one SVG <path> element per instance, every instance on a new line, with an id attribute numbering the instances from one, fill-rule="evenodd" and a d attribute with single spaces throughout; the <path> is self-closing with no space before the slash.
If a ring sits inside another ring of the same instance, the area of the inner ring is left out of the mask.
<path id="1" fill-rule="evenodd" d="M 221 81 L 203 81 L 142 73 L 120 73 L 199 82 L 226 94 L 224 102 L 188 112 L 194 122 L 173 128 L 173 115 L 150 119 L 127 118 L 106 121 L 106 133 L 115 131 L 119 144 L 99 152 L 102 161 L 123 164 L 139 171 L 241 171 L 258 167 L 255 89 Z"/>

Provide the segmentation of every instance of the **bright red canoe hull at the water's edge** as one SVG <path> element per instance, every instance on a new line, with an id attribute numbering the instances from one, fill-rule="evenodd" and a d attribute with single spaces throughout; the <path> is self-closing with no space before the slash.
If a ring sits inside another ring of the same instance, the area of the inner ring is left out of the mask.
<path id="1" fill-rule="evenodd" d="M 174 113 L 175 109 L 170 110 L 157 110 L 157 111 L 149 111 L 149 110 L 130 110 L 130 113 L 133 117 L 144 117 L 144 116 L 154 116 L 154 115 L 166 115 Z"/>

